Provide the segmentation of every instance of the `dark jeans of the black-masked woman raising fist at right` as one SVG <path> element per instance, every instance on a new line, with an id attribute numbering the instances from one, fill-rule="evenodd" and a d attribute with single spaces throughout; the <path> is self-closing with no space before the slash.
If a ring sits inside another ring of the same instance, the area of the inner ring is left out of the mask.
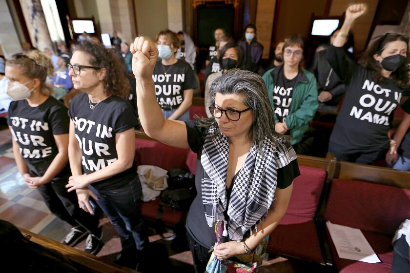
<path id="1" fill-rule="evenodd" d="M 335 143 L 329 143 L 328 151 L 333 153 L 337 160 L 349 161 L 359 164 L 371 164 L 384 159 L 388 149 L 369 150 L 358 153 L 347 153 L 346 148 Z"/>

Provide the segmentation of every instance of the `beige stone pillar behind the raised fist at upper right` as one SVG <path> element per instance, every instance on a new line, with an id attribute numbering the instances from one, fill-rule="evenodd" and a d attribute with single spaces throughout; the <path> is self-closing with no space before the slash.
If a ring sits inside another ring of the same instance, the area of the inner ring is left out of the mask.
<path id="1" fill-rule="evenodd" d="M 352 28 L 352 33 L 354 35 L 354 51 L 358 53 L 366 46 L 371 23 L 373 22 L 374 14 L 376 13 L 376 8 L 379 0 L 332 0 L 329 15 L 340 16 L 346 11 L 349 5 L 355 2 L 364 3 L 368 8 L 366 14 L 359 18 Z"/>

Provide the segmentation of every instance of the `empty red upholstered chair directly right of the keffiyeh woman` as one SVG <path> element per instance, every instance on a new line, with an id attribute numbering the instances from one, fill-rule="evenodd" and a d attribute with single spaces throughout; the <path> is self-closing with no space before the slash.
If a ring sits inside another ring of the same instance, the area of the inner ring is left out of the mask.
<path id="1" fill-rule="evenodd" d="M 270 234 L 268 252 L 325 264 L 314 217 L 327 173 L 308 166 L 299 169 L 287 213 Z"/>

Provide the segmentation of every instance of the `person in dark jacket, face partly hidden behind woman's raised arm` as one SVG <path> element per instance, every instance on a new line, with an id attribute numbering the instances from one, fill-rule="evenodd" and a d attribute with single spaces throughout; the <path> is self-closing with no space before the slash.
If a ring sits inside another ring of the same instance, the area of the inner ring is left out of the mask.
<path id="1" fill-rule="evenodd" d="M 333 43 L 339 31 L 340 29 L 336 29 L 332 32 L 330 35 L 330 44 Z M 310 71 L 315 75 L 317 80 L 317 90 L 319 92 L 318 109 L 336 112 L 337 105 L 342 95 L 346 92 L 346 85 L 330 67 L 326 54 L 327 48 L 316 51 Z"/>

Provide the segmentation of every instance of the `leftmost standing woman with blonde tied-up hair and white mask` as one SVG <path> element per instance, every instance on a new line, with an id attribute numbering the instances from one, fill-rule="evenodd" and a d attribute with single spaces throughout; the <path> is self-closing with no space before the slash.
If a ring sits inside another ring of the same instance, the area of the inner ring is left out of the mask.
<path id="1" fill-rule="evenodd" d="M 71 176 L 68 165 L 67 108 L 50 96 L 45 84 L 54 72 L 51 60 L 38 50 L 14 55 L 7 61 L 7 94 L 14 100 L 8 112 L 13 135 L 13 154 L 24 182 L 39 191 L 49 210 L 73 228 L 63 244 L 74 246 L 87 234 L 101 236 L 98 217 L 78 206 L 77 195 L 67 193 Z M 95 254 L 97 249 L 85 252 Z"/>

